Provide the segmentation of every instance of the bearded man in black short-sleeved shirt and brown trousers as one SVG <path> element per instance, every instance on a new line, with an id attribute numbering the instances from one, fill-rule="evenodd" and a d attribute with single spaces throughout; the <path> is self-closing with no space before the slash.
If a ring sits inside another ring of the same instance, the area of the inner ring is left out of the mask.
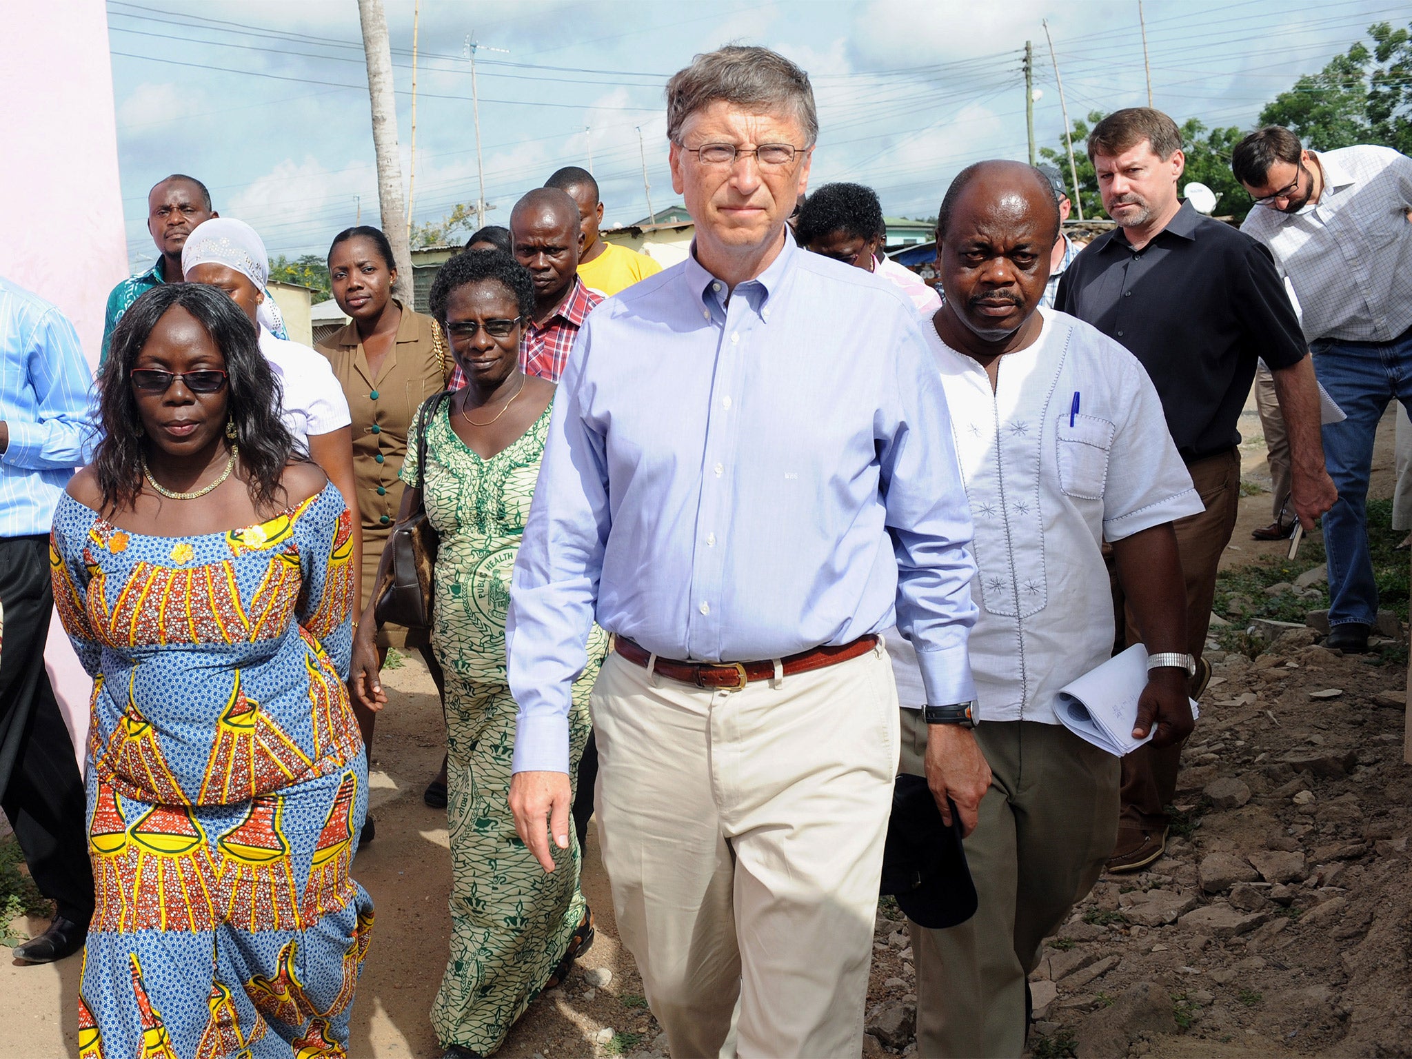
<path id="1" fill-rule="evenodd" d="M 1206 511 L 1178 521 L 1186 578 L 1192 690 L 1210 678 L 1202 658 L 1216 568 L 1236 527 L 1236 421 L 1264 359 L 1289 428 L 1292 498 L 1306 528 L 1337 498 L 1319 438 L 1319 390 L 1299 321 L 1269 251 L 1178 198 L 1186 157 L 1176 123 L 1131 107 L 1089 136 L 1089 158 L 1118 229 L 1096 239 L 1059 284 L 1056 308 L 1123 343 L 1148 370 L 1168 429 Z M 1082 398 L 1080 398 L 1082 400 Z M 1121 590 L 1117 592 L 1121 597 Z M 1125 641 L 1142 633 L 1127 610 Z M 1123 818 L 1110 871 L 1137 871 L 1166 846 L 1163 809 L 1176 791 L 1182 746 L 1123 758 Z"/>

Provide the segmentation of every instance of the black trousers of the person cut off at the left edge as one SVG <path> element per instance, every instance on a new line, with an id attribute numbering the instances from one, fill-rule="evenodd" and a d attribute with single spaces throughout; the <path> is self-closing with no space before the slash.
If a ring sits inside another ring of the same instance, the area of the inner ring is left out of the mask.
<path id="1" fill-rule="evenodd" d="M 0 806 L 40 892 L 58 915 L 88 923 L 93 871 L 83 781 L 44 669 L 52 603 L 48 538 L 0 538 Z"/>

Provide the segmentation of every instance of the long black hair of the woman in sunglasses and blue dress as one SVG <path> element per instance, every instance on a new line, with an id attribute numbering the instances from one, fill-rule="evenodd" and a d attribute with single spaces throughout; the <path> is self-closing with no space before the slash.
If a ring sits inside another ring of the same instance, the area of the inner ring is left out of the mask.
<path id="1" fill-rule="evenodd" d="M 250 500 L 257 510 L 271 507 L 278 503 L 280 480 L 295 453 L 294 436 L 280 419 L 280 380 L 260 352 L 250 318 L 223 291 L 202 284 L 154 287 L 128 306 L 113 329 L 99 377 L 103 441 L 93 459 L 103 507 L 131 507 L 143 491 L 141 417 L 128 374 L 152 328 L 176 305 L 196 318 L 226 359 L 226 412 L 236 425 L 240 462 L 250 476 Z"/>

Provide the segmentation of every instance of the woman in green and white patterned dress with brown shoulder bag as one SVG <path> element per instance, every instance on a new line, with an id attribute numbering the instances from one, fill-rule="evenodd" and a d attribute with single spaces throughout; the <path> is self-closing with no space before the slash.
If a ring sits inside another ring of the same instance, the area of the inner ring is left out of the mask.
<path id="1" fill-rule="evenodd" d="M 559 870 L 546 874 L 517 837 L 507 803 L 515 736 L 505 682 L 510 575 L 554 401 L 551 383 L 520 370 L 532 280 L 507 254 L 457 254 L 436 277 L 431 309 L 467 384 L 422 407 L 408 435 L 398 518 L 412 510 L 421 484 L 441 538 L 432 650 L 446 672 L 452 857 L 450 959 L 432 1025 L 445 1058 L 465 1059 L 500 1048 L 530 1001 L 589 947 L 593 926 L 579 892 L 576 839 L 556 850 Z M 417 459 L 422 429 L 425 480 Z M 378 583 L 390 562 L 384 552 Z M 589 737 L 589 690 L 606 651 L 606 635 L 594 630 L 590 664 L 573 686 L 570 775 Z M 387 702 L 371 602 L 353 647 L 352 685 L 370 709 Z"/>

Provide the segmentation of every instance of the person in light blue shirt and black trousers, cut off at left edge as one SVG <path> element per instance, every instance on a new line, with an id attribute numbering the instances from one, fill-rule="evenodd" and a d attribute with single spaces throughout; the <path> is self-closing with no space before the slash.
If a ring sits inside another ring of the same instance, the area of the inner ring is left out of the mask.
<path id="1" fill-rule="evenodd" d="M 0 805 L 30 875 L 55 902 L 54 923 L 14 950 L 30 963 L 83 947 L 93 875 L 83 836 L 83 781 L 44 668 L 54 593 L 49 522 L 95 431 L 92 383 L 73 325 L 0 278 Z"/>

